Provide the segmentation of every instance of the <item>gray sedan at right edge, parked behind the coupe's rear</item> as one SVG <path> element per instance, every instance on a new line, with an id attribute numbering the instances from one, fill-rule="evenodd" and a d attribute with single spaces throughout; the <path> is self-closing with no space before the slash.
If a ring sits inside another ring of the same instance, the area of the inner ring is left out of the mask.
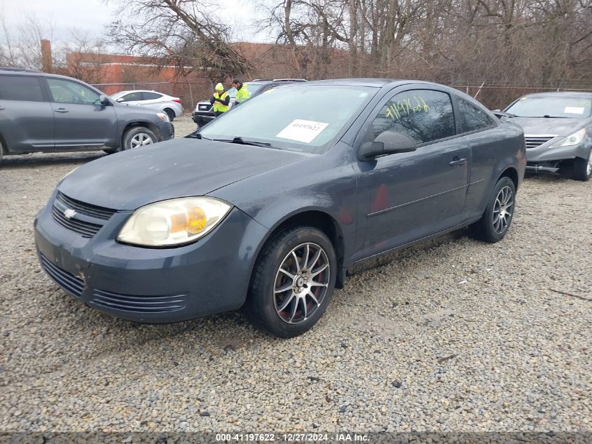
<path id="1" fill-rule="evenodd" d="M 528 94 L 504 112 L 524 128 L 528 170 L 558 173 L 574 180 L 592 173 L 592 93 Z"/>

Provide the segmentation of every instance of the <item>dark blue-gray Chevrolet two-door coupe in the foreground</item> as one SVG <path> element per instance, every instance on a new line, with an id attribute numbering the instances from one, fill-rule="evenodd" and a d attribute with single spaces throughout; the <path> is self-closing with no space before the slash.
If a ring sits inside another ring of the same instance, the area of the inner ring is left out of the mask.
<path id="1" fill-rule="evenodd" d="M 37 215 L 35 241 L 58 285 L 113 316 L 245 306 L 294 337 L 358 262 L 467 226 L 500 241 L 525 166 L 523 130 L 457 90 L 294 84 L 191 137 L 81 166 Z"/>

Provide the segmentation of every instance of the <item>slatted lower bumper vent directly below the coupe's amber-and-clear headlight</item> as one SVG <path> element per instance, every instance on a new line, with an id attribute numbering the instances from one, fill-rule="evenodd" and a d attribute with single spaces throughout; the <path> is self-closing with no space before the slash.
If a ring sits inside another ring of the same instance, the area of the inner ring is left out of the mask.
<path id="1" fill-rule="evenodd" d="M 95 290 L 90 302 L 106 309 L 133 311 L 135 313 L 168 313 L 186 307 L 187 295 L 132 296 Z"/>

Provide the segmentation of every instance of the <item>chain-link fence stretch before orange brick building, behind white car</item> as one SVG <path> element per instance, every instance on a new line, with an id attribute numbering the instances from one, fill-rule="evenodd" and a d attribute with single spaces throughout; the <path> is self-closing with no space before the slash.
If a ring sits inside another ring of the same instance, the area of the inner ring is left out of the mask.
<path id="1" fill-rule="evenodd" d="M 172 95 L 181 99 L 181 104 L 186 110 L 195 109 L 200 100 L 205 100 L 212 95 L 214 85 L 209 80 L 201 81 L 137 81 L 130 83 L 95 83 L 95 88 L 111 95 L 127 90 L 153 90 L 158 93 Z"/>

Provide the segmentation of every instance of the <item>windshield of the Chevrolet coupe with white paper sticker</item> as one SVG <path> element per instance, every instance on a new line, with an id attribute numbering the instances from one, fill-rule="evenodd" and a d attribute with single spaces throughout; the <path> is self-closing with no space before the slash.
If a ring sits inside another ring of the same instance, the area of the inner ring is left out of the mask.
<path id="1" fill-rule="evenodd" d="M 214 119 L 200 134 L 220 140 L 240 136 L 273 148 L 321 153 L 374 93 L 376 88 L 362 86 L 270 89 Z"/>

